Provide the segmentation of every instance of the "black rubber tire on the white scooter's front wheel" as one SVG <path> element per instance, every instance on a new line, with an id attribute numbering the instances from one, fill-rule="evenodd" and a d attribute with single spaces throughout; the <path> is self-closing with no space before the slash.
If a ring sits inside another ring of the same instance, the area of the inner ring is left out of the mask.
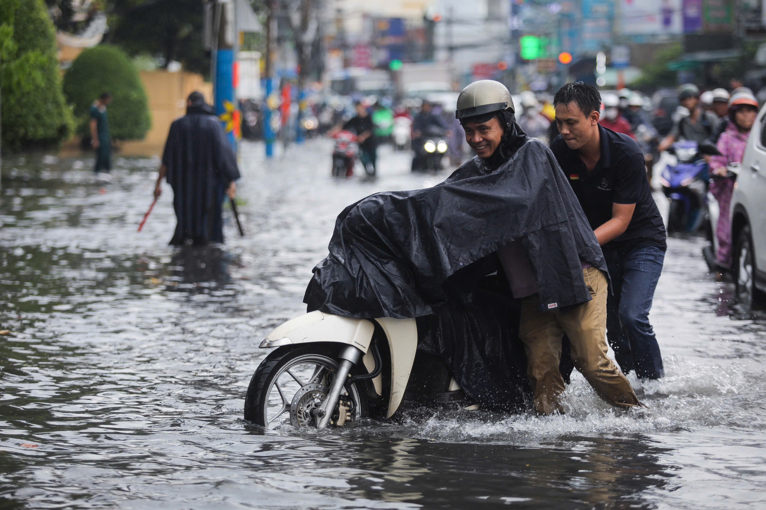
<path id="1" fill-rule="evenodd" d="M 258 365 L 250 384 L 247 386 L 247 394 L 244 399 L 244 419 L 250 423 L 267 427 L 267 406 L 271 385 L 275 378 L 280 377 L 284 372 L 283 368 L 289 367 L 294 361 L 306 356 L 316 356 L 318 358 L 328 358 L 335 361 L 338 366 L 338 355 L 340 348 L 345 344 L 334 343 L 312 343 L 304 345 L 286 345 L 269 353 L 269 355 Z M 361 364 L 361 361 L 360 361 Z M 352 368 L 352 373 L 355 368 Z M 349 392 L 349 398 L 354 400 L 355 416 L 353 420 L 361 420 L 369 417 L 367 393 L 364 382 L 355 382 L 345 385 Z M 290 400 L 293 395 L 287 395 Z M 289 411 L 288 411 L 289 416 Z"/>

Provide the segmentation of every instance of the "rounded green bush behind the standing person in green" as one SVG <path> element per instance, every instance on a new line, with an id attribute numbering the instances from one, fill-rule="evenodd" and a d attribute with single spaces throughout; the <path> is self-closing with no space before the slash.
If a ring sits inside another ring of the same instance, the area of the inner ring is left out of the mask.
<path id="1" fill-rule="evenodd" d="M 112 138 L 142 139 L 152 127 L 146 90 L 125 52 L 106 44 L 83 51 L 64 75 L 64 93 L 74 106 L 80 135 L 87 135 L 90 106 L 103 92 L 113 96 L 109 107 Z"/>

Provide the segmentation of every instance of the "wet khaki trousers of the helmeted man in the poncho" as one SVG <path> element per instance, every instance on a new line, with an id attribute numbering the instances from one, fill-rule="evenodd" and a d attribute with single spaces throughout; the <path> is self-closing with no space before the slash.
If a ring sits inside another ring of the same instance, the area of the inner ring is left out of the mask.
<path id="1" fill-rule="evenodd" d="M 593 266 L 585 268 L 583 275 L 593 296 L 591 301 L 565 311 L 540 312 L 539 294 L 522 300 L 519 336 L 527 355 L 535 410 L 540 414 L 564 412 L 558 403 L 558 395 L 564 391 L 558 362 L 565 333 L 575 368 L 601 398 L 617 407 L 641 405 L 630 383 L 607 356 L 607 278 Z"/>

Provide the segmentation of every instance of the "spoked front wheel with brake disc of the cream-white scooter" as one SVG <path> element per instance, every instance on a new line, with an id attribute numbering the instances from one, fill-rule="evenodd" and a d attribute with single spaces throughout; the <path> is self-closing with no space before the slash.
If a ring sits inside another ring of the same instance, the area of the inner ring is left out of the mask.
<path id="1" fill-rule="evenodd" d="M 258 366 L 244 401 L 244 419 L 267 429 L 316 427 L 317 409 L 338 370 L 339 344 L 286 345 Z M 358 387 L 357 387 L 358 386 Z M 332 411 L 332 426 L 368 416 L 362 383 L 346 384 Z"/>

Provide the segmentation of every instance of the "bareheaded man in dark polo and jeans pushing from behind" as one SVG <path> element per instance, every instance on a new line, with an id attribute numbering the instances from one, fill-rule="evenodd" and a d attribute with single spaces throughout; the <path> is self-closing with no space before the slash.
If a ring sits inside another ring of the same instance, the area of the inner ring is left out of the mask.
<path id="1" fill-rule="evenodd" d="M 601 95 L 591 85 L 567 83 L 553 106 L 561 133 L 551 144 L 594 229 L 607 260 L 607 339 L 624 373 L 663 377 L 663 359 L 649 311 L 663 269 L 666 234 L 630 136 L 600 126 Z"/>

